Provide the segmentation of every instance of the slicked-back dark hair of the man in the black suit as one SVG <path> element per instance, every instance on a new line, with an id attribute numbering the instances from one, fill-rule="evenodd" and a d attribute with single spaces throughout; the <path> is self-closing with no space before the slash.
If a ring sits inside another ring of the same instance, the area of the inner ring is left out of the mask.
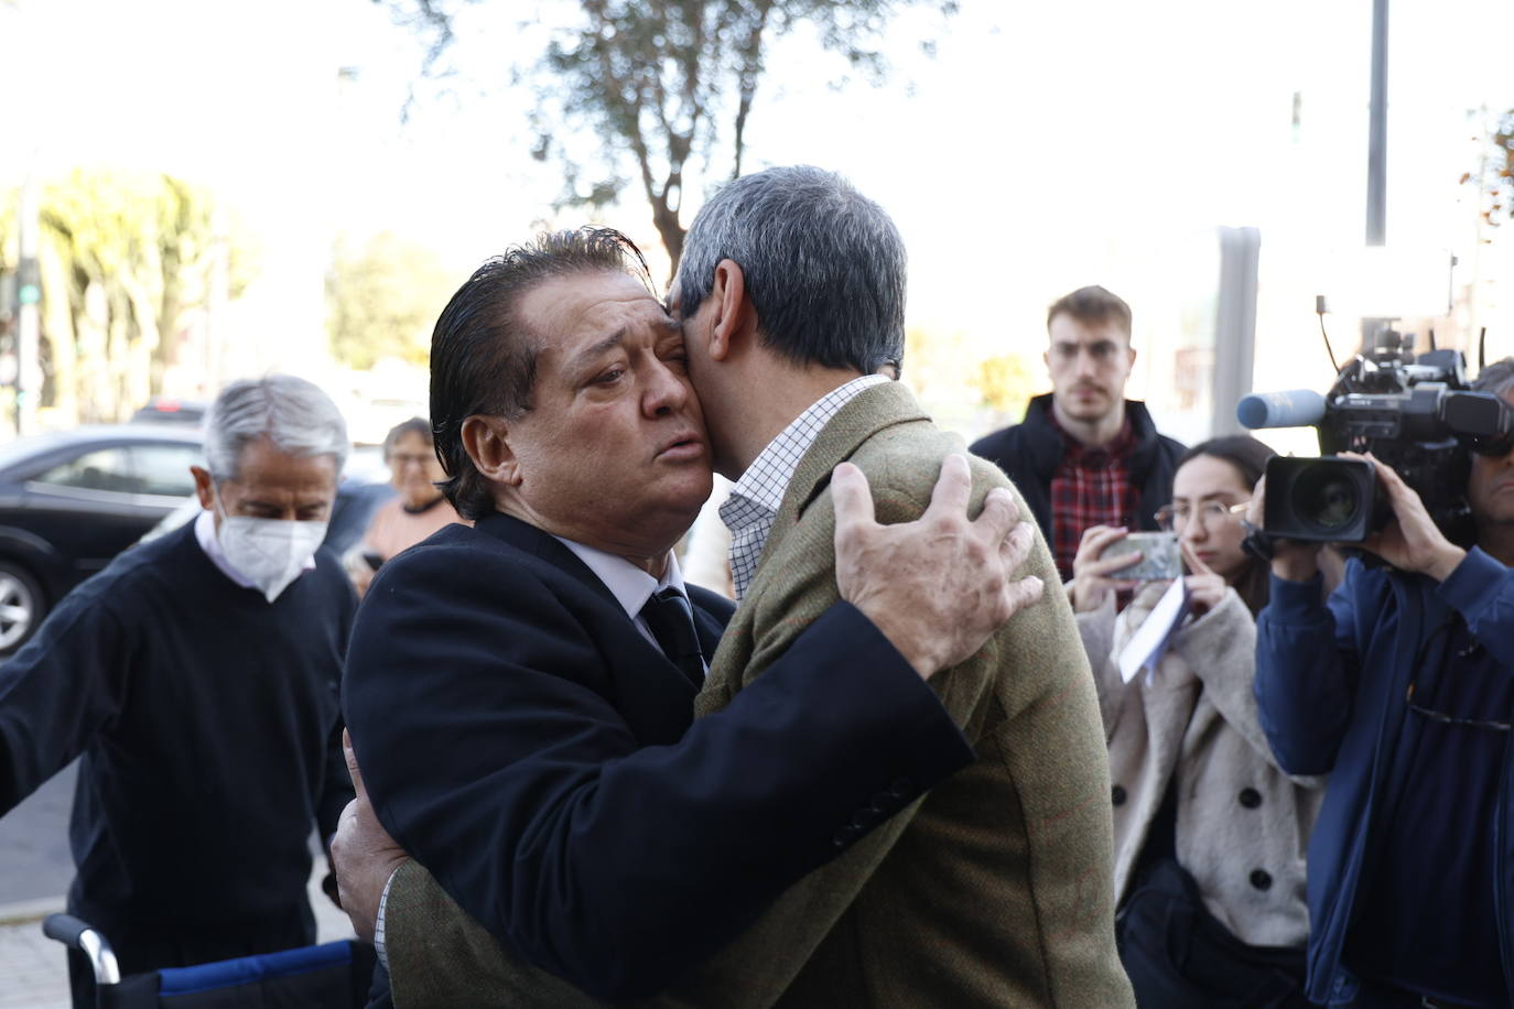
<path id="1" fill-rule="evenodd" d="M 442 493 L 466 519 L 495 510 L 489 481 L 463 448 L 463 421 L 513 421 L 531 408 L 540 336 L 519 318 L 519 304 L 542 281 L 572 274 L 627 274 L 651 293 L 646 260 L 613 228 L 537 234 L 495 256 L 457 289 L 431 331 L 431 434 L 447 472 Z"/>

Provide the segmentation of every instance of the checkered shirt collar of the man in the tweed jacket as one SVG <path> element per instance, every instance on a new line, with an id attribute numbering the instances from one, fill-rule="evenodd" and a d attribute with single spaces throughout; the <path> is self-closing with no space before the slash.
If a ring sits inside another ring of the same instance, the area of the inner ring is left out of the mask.
<path id="1" fill-rule="evenodd" d="M 731 496 L 721 505 L 721 522 L 731 531 L 731 581 L 737 599 L 746 595 L 746 585 L 757 573 L 757 561 L 799 460 L 852 396 L 884 381 L 889 381 L 884 375 L 861 375 L 816 399 L 768 443 L 736 481 Z"/>

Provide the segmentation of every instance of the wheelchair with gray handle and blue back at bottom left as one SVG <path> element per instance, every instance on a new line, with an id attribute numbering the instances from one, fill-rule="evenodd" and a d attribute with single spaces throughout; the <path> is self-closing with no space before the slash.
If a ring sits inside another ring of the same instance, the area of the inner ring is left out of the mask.
<path id="1" fill-rule="evenodd" d="M 88 958 L 98 1009 L 360 1009 L 374 947 L 356 939 L 121 977 L 111 942 L 86 921 L 53 914 L 42 933 Z"/>

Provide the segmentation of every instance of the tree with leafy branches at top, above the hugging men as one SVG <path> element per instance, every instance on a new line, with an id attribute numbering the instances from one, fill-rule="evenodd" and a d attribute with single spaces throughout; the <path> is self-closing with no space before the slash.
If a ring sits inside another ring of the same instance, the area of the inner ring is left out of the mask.
<path id="1" fill-rule="evenodd" d="M 484 0 L 374 0 L 428 36 L 427 71 L 451 47 L 454 20 Z M 878 82 L 887 64 L 877 45 L 899 8 L 945 14 L 955 0 L 577 0 L 571 23 L 553 32 L 534 67 L 534 156 L 554 159 L 566 183 L 562 206 L 604 206 L 633 169 L 671 262 L 683 251 L 680 218 L 690 159 L 742 172 L 746 124 L 775 38 L 804 24 L 846 65 Z M 930 51 L 930 42 L 922 42 Z M 601 141 L 583 163 L 568 138 L 589 129 Z M 716 156 L 716 151 L 728 151 Z"/>

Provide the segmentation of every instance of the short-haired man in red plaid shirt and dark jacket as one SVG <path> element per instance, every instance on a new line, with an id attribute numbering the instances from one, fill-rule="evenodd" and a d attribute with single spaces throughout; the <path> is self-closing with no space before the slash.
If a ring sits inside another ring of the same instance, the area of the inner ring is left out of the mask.
<path id="1" fill-rule="evenodd" d="M 1157 528 L 1184 446 L 1157 433 L 1145 404 L 1125 398 L 1136 351 L 1123 300 L 1079 287 L 1046 310 L 1046 331 L 1052 392 L 1031 399 L 1023 424 L 972 451 L 1025 495 L 1066 581 L 1084 529 Z"/>

